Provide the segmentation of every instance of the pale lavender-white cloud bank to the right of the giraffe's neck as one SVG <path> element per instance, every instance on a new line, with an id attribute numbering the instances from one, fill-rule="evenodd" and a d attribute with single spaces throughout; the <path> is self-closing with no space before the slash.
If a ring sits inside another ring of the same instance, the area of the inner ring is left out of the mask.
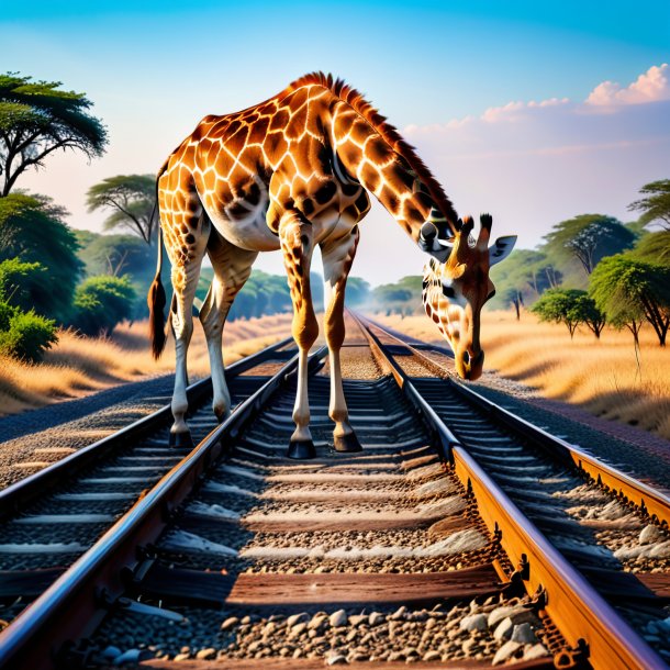
<path id="1" fill-rule="evenodd" d="M 639 188 L 670 176 L 668 75 L 661 65 L 625 89 L 596 87 L 615 103 L 513 101 L 404 132 L 461 215 L 490 211 L 494 235 L 518 233 L 531 247 L 577 214 L 629 221 Z"/>

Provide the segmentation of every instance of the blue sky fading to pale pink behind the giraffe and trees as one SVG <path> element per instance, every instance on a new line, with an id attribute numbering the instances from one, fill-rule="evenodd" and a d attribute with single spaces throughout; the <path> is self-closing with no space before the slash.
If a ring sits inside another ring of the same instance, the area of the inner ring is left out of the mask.
<path id="1" fill-rule="evenodd" d="M 498 232 L 518 232 L 525 247 L 561 217 L 629 217 L 637 189 L 670 177 L 667 70 L 645 80 L 656 86 L 647 98 L 616 94 L 670 60 L 667 0 L 0 2 L 0 69 L 86 91 L 109 127 L 104 158 L 58 156 L 19 183 L 65 204 L 77 227 L 100 225 L 83 206 L 92 183 L 155 171 L 202 115 L 259 102 L 314 69 L 365 91 L 459 211 L 491 210 Z M 619 89 L 587 103 L 605 81 Z M 539 105 L 551 99 L 562 102 Z M 373 210 L 356 275 L 378 283 L 421 271 L 395 228 Z M 280 259 L 259 267 L 278 271 Z"/>

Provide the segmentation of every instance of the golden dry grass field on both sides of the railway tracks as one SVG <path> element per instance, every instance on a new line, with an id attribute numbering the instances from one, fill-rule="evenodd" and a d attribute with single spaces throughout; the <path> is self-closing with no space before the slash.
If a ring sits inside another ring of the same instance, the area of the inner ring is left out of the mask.
<path id="1" fill-rule="evenodd" d="M 433 324 L 423 314 L 376 319 L 420 339 L 439 342 Z M 498 370 L 545 398 L 572 403 L 598 416 L 670 439 L 670 351 L 658 345 L 650 326 L 640 333 L 640 350 L 636 356 L 628 331 L 607 327 L 598 340 L 590 331 L 580 327 L 571 340 L 566 326 L 540 323 L 528 312 L 522 313 L 521 321 L 511 311 L 484 312 L 482 320 L 485 369 Z M 226 324 L 226 364 L 288 336 L 290 323 L 290 314 L 277 314 Z M 58 337 L 58 344 L 46 353 L 42 364 L 0 360 L 2 414 L 174 370 L 171 339 L 160 360 L 153 360 L 146 322 L 124 323 L 108 338 L 81 337 L 71 331 L 63 331 Z M 199 324 L 189 349 L 189 371 L 193 379 L 209 373 Z"/>

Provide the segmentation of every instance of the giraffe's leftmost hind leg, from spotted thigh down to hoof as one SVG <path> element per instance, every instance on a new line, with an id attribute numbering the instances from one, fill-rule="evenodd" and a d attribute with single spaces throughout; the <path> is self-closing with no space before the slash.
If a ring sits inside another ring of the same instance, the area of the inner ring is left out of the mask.
<path id="1" fill-rule="evenodd" d="M 189 403 L 187 353 L 193 334 L 193 299 L 200 278 L 200 266 L 210 235 L 210 222 L 203 212 L 197 194 L 187 199 L 186 208 L 161 206 L 161 225 L 165 233 L 166 250 L 171 264 L 172 303 L 170 325 L 175 336 L 175 390 L 171 410 L 175 423 L 170 428 L 170 444 L 190 446 L 192 444 L 186 413 Z"/>

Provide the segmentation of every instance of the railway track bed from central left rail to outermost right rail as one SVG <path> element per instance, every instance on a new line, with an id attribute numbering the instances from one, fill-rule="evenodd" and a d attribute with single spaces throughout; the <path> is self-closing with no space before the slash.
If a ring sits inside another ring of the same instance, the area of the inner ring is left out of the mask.
<path id="1" fill-rule="evenodd" d="M 604 558 L 662 548 L 661 494 L 500 424 L 354 316 L 344 383 L 364 451 L 337 454 L 323 356 L 315 459 L 286 458 L 289 361 L 15 618 L 4 666 L 667 667 L 667 566 Z"/>

